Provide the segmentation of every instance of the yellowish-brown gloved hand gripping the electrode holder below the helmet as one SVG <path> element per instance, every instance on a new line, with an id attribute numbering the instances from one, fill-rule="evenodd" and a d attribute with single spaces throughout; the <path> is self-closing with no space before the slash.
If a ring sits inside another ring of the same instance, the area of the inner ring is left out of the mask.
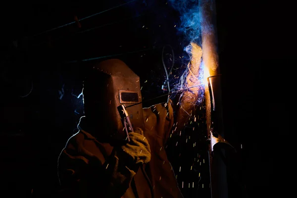
<path id="1" fill-rule="evenodd" d="M 130 142 L 118 149 L 119 158 L 127 160 L 128 164 L 148 163 L 150 161 L 150 148 L 144 132 L 136 128 L 129 133 Z"/>

